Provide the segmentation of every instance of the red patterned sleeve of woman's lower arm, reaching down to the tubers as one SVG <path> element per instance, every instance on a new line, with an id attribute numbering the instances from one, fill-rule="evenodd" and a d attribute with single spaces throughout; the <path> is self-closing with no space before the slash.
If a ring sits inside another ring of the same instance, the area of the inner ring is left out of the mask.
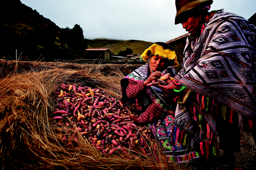
<path id="1" fill-rule="evenodd" d="M 146 124 L 154 120 L 160 115 L 161 111 L 156 103 L 152 103 L 138 118 L 137 122 L 139 124 Z"/>

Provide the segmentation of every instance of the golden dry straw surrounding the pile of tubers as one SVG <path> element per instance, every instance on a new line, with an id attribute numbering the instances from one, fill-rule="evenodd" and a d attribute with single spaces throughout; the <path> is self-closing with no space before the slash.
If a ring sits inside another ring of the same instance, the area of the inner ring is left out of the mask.
<path id="1" fill-rule="evenodd" d="M 103 76 L 96 70 L 41 70 L 21 72 L 0 80 L 0 161 L 4 169 L 176 169 L 151 157 L 125 159 L 94 149 L 83 137 L 76 144 L 61 143 L 48 120 L 53 91 L 65 81 L 83 82 L 120 98 L 121 73 Z M 159 150 L 159 157 L 161 149 Z"/>

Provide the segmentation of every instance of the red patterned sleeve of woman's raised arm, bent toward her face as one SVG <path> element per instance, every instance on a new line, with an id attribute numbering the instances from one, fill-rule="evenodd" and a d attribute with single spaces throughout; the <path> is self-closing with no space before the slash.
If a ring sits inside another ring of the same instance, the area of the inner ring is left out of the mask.
<path id="1" fill-rule="evenodd" d="M 129 80 L 128 87 L 126 88 L 126 95 L 128 98 L 138 98 L 145 94 L 146 87 L 142 82 L 136 83 Z"/>

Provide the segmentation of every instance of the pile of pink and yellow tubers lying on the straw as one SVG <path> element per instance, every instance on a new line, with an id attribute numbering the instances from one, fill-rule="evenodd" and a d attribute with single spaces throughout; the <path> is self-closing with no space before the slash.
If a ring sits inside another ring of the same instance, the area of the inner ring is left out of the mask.
<path id="1" fill-rule="evenodd" d="M 49 118 L 60 127 L 57 132 L 64 142 L 77 140 L 80 133 L 104 153 L 155 152 L 148 126 L 133 124 L 135 115 L 105 91 L 67 82 L 57 88 L 54 98 L 57 104 Z"/>

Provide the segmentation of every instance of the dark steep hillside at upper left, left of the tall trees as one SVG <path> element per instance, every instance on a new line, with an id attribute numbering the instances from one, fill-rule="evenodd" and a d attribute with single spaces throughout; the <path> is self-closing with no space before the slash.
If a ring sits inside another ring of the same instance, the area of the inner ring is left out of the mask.
<path id="1" fill-rule="evenodd" d="M 60 28 L 54 22 L 20 0 L 1 0 L 0 6 L 1 57 L 15 59 L 16 50 L 30 59 L 55 55 L 52 46 L 59 41 Z"/>

